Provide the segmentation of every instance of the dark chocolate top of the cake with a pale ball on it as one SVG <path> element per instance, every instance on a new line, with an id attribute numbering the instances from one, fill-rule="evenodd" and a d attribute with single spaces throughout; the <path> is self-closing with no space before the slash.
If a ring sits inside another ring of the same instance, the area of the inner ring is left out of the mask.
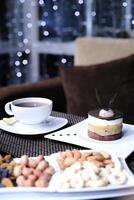
<path id="1" fill-rule="evenodd" d="M 118 110 L 112 110 L 110 108 L 90 111 L 89 115 L 106 120 L 114 120 L 123 117 L 123 113 L 119 112 Z"/>

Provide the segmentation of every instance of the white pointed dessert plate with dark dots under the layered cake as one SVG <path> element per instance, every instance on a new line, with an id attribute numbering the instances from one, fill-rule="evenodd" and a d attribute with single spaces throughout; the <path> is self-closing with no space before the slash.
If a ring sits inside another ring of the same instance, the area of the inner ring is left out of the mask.
<path id="1" fill-rule="evenodd" d="M 69 144 L 96 150 L 108 150 L 116 153 L 119 157 L 126 158 L 134 151 L 134 125 L 123 124 L 123 136 L 118 140 L 99 141 L 88 137 L 88 119 L 83 120 L 71 127 L 44 136 L 52 140 L 62 141 Z"/>

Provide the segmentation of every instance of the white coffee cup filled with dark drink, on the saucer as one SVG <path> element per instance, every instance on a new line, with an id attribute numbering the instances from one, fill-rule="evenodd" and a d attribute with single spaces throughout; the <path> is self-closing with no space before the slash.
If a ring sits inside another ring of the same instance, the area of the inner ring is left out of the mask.
<path id="1" fill-rule="evenodd" d="M 27 97 L 16 99 L 5 105 L 5 111 L 14 115 L 24 124 L 39 124 L 45 121 L 52 112 L 53 102 L 47 98 Z"/>

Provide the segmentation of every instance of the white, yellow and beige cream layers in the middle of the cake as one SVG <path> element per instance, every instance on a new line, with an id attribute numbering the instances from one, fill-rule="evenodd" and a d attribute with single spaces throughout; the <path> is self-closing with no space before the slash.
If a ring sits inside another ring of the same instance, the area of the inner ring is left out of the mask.
<path id="1" fill-rule="evenodd" d="M 88 116 L 88 132 L 91 131 L 100 136 L 115 135 L 122 131 L 122 121 L 122 118 L 105 120 Z"/>

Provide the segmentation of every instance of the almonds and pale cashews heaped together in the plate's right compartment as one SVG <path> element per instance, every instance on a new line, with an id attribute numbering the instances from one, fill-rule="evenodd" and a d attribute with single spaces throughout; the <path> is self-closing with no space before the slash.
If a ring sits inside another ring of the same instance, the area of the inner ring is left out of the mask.
<path id="1" fill-rule="evenodd" d="M 57 162 L 62 169 L 57 189 L 122 185 L 127 181 L 121 164 L 104 151 L 66 150 L 58 154 Z"/>

